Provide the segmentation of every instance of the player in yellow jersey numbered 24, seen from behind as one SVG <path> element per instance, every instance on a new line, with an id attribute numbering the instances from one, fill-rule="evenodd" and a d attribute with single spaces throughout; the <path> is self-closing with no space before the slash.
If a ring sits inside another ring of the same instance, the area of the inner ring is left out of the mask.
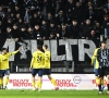
<path id="1" fill-rule="evenodd" d="M 38 74 L 38 84 L 37 87 L 38 90 L 41 90 L 41 84 L 43 84 L 43 68 L 44 68 L 44 59 L 45 54 L 41 51 L 41 46 L 37 46 L 37 51 L 33 53 L 33 59 L 31 62 L 31 71 L 32 71 L 32 83 L 33 83 L 33 90 L 36 90 L 35 88 L 35 76 Z"/>

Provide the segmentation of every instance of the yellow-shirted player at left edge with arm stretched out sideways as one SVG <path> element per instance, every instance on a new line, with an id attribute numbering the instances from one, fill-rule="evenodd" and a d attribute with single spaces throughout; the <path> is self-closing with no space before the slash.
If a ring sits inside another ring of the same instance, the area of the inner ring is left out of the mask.
<path id="1" fill-rule="evenodd" d="M 17 53 L 20 51 L 21 48 L 19 48 L 19 50 L 14 51 L 14 52 L 8 52 L 7 48 L 2 48 L 2 52 L 0 54 L 0 70 L 2 72 L 2 77 L 5 75 L 4 78 L 4 88 L 7 88 L 8 82 L 9 82 L 9 75 L 10 75 L 10 66 L 9 66 L 9 59 L 11 56 Z M 2 79 L 0 81 L 0 83 L 2 84 Z"/>

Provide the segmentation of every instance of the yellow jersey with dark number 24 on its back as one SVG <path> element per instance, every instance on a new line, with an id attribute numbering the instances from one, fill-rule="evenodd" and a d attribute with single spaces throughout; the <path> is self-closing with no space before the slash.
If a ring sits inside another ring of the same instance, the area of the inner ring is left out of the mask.
<path id="1" fill-rule="evenodd" d="M 33 59 L 31 62 L 31 68 L 32 69 L 43 69 L 44 68 L 44 59 L 45 54 L 41 51 L 35 51 L 33 53 Z"/>

